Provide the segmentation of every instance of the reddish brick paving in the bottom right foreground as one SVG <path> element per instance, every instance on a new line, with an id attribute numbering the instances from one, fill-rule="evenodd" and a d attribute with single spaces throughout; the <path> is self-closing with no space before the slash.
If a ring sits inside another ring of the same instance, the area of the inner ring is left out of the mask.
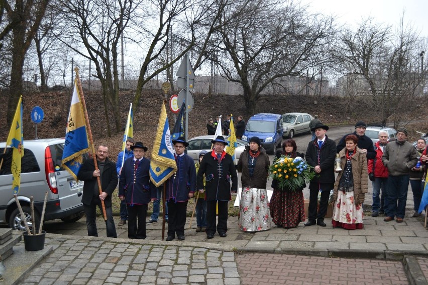
<path id="1" fill-rule="evenodd" d="M 409 284 L 400 261 L 243 253 L 237 262 L 248 285 Z"/>

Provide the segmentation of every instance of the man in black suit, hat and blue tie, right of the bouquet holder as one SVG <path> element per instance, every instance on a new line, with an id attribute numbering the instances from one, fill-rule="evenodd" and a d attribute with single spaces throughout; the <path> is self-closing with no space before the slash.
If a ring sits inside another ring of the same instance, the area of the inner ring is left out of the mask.
<path id="1" fill-rule="evenodd" d="M 316 123 L 311 131 L 316 138 L 311 140 L 306 150 L 306 162 L 312 166 L 317 174 L 309 183 L 308 222 L 305 226 L 317 224 L 325 227 L 324 216 L 327 213 L 330 190 L 335 185 L 335 158 L 336 143 L 327 137 L 329 127 L 323 123 Z M 316 211 L 318 192 L 321 191 L 319 210 Z M 315 218 L 317 221 L 315 222 Z"/>

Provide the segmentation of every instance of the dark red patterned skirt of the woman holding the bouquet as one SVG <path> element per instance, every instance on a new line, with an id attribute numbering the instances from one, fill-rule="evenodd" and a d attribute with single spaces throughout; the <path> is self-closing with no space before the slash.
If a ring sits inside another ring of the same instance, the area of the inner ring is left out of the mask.
<path id="1" fill-rule="evenodd" d="M 305 220 L 303 192 L 273 189 L 269 203 L 272 221 L 284 228 L 295 228 Z"/>

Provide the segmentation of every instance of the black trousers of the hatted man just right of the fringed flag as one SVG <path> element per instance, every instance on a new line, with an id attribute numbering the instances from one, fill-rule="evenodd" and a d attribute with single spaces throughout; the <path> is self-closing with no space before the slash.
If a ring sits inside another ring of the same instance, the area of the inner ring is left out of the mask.
<path id="1" fill-rule="evenodd" d="M 186 224 L 187 201 L 177 202 L 168 201 L 168 236 L 175 237 L 184 235 L 184 226 Z"/>

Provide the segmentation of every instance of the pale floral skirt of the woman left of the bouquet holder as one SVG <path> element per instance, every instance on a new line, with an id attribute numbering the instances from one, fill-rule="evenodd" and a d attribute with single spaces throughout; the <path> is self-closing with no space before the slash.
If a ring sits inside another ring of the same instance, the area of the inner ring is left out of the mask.
<path id="1" fill-rule="evenodd" d="M 239 203 L 238 226 L 243 231 L 270 229 L 271 219 L 266 189 L 243 187 Z"/>

